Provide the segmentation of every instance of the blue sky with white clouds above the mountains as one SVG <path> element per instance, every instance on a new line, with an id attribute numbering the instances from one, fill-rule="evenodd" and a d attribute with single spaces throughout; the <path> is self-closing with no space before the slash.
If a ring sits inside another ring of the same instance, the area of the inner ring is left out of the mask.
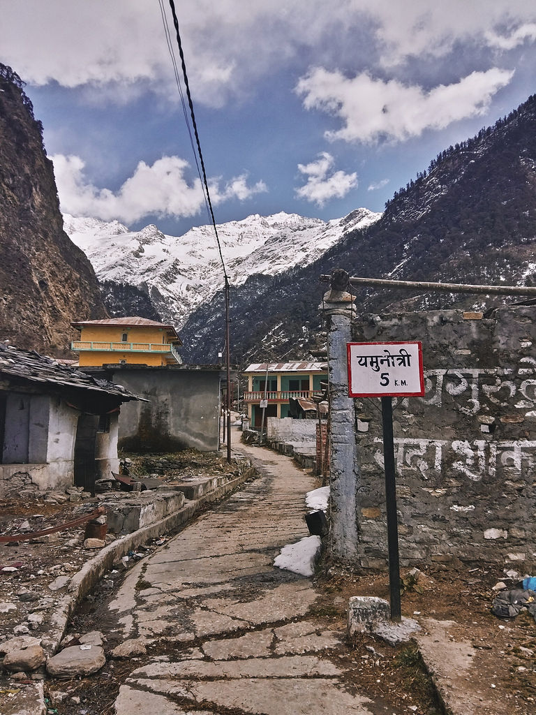
<path id="1" fill-rule="evenodd" d="M 527 0 L 176 6 L 218 223 L 381 211 L 536 91 Z M 0 0 L 0 17 L 0 61 L 44 124 L 64 212 L 172 235 L 209 222 L 169 0 Z"/>

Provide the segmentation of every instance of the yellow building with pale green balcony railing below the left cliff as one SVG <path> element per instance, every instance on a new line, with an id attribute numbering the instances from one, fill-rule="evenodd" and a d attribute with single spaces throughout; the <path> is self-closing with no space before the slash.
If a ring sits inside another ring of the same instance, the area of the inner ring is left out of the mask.
<path id="1" fill-rule="evenodd" d="M 144 317 L 112 317 L 106 320 L 72 322 L 81 331 L 71 342 L 81 368 L 111 364 L 160 367 L 182 363 L 177 347 L 182 345 L 172 325 Z"/>

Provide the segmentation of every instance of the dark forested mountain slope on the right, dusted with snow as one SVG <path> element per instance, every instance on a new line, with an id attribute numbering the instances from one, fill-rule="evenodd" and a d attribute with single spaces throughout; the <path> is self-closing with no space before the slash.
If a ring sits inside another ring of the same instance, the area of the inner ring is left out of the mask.
<path id="1" fill-rule="evenodd" d="M 445 149 L 395 192 L 381 219 L 349 232 L 304 269 L 252 276 L 232 290 L 232 356 L 302 358 L 322 342 L 319 276 L 525 284 L 536 276 L 536 97 Z M 502 299 L 367 288 L 359 312 L 492 305 Z M 187 358 L 204 362 L 224 344 L 222 297 L 199 308 L 182 331 Z M 219 347 L 218 347 L 219 346 Z"/>

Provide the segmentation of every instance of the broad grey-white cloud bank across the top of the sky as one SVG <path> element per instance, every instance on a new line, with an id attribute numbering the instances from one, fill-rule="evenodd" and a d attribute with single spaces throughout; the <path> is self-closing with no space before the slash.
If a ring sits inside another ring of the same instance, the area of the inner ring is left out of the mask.
<path id="1" fill-rule="evenodd" d="M 358 73 L 444 57 L 460 42 L 508 51 L 536 39 L 527 0 L 197 0 L 177 12 L 194 98 L 214 106 L 311 53 L 330 68 L 344 57 Z M 91 85 L 95 94 L 109 85 L 118 102 L 147 87 L 177 99 L 154 1 L 0 0 L 0 16 L 0 61 L 28 82 Z"/>

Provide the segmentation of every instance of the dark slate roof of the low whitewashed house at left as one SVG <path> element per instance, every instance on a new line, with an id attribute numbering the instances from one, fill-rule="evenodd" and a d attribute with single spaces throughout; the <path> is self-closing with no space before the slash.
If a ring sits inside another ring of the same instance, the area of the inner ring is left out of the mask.
<path id="1" fill-rule="evenodd" d="M 95 397 L 101 395 L 116 398 L 118 402 L 139 400 L 137 395 L 121 385 L 93 378 L 54 358 L 39 355 L 35 350 L 21 350 L 0 342 L 0 379 L 6 378 L 11 382 L 31 383 L 36 387 L 42 385 L 56 390 L 79 390 Z"/>

